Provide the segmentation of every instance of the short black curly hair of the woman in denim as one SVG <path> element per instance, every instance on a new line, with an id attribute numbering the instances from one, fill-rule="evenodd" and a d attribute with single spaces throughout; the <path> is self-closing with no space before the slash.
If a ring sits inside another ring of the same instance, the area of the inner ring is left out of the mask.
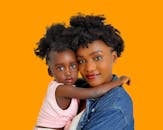
<path id="1" fill-rule="evenodd" d="M 112 47 L 121 55 L 124 50 L 124 42 L 120 32 L 111 24 L 104 23 L 103 15 L 77 15 L 70 19 L 70 27 L 66 31 L 72 39 L 72 46 L 77 50 L 80 46 L 88 47 L 95 40 L 102 40 L 107 46 Z"/>

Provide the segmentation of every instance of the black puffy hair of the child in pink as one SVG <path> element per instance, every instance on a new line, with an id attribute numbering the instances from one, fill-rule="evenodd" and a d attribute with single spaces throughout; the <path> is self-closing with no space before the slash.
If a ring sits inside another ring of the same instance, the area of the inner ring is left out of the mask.
<path id="1" fill-rule="evenodd" d="M 34 49 L 34 53 L 41 59 L 45 59 L 46 64 L 49 63 L 49 54 L 51 51 L 63 52 L 70 49 L 68 37 L 63 36 L 63 31 L 65 29 L 64 24 L 51 25 L 47 28 L 45 35 L 37 43 L 37 48 Z M 52 76 L 50 68 L 48 68 L 48 73 Z"/>

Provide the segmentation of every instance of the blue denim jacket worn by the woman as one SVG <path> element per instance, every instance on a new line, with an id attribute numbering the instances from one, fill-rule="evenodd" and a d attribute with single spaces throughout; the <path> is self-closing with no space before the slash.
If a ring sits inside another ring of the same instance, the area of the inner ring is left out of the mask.
<path id="1" fill-rule="evenodd" d="M 100 98 L 87 99 L 77 130 L 134 130 L 132 100 L 124 88 L 119 86 Z"/>

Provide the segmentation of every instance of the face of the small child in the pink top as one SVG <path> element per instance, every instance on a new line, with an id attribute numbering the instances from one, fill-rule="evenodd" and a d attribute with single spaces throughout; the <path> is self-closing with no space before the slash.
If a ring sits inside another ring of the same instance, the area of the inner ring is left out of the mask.
<path id="1" fill-rule="evenodd" d="M 78 76 L 78 64 L 72 50 L 50 52 L 50 70 L 59 83 L 73 85 Z"/>

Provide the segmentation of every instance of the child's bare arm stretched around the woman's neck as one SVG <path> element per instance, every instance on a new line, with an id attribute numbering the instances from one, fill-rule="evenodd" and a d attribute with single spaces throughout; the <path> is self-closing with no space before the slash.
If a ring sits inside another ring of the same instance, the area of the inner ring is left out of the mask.
<path id="1" fill-rule="evenodd" d="M 122 85 L 123 83 L 129 85 L 130 79 L 126 76 L 121 76 L 117 80 L 93 88 L 79 88 L 72 87 L 70 85 L 60 85 L 56 89 L 56 96 L 78 99 L 96 98 L 102 96 L 110 89 Z"/>

